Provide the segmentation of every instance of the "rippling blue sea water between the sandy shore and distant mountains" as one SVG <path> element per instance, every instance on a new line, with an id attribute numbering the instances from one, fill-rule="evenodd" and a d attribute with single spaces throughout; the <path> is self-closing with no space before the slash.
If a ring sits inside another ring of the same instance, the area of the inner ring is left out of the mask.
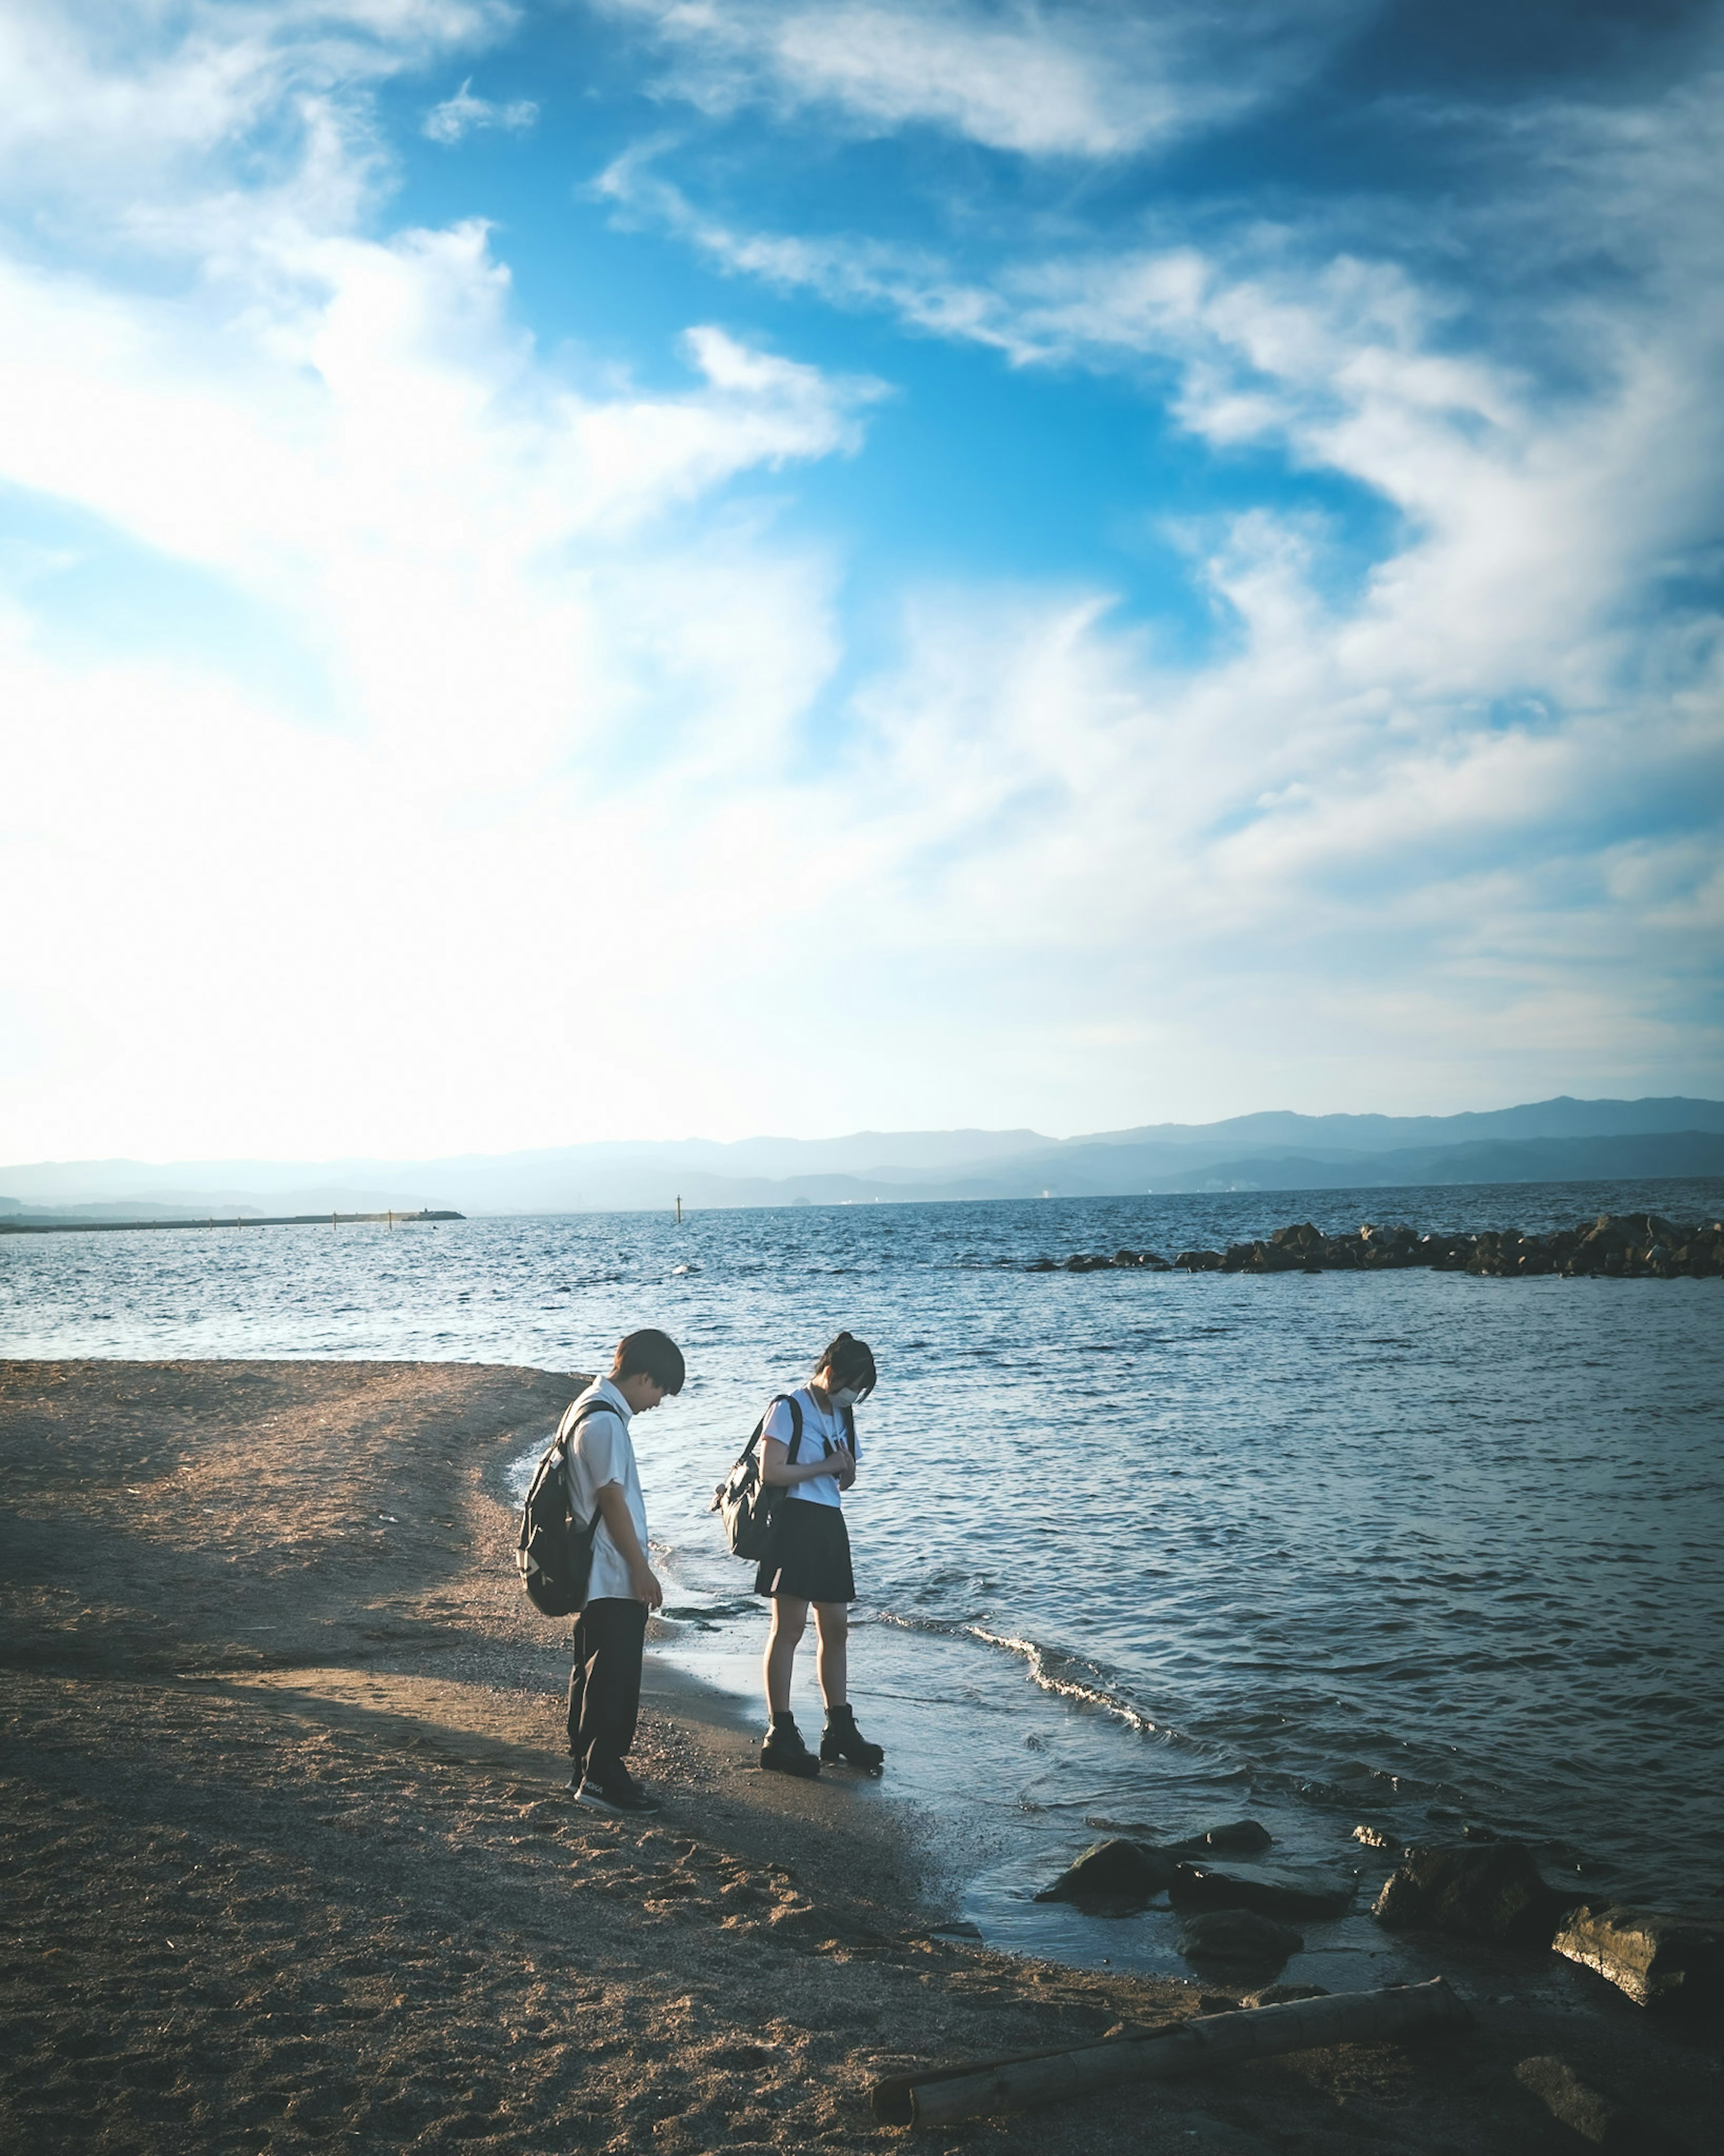
<path id="1" fill-rule="evenodd" d="M 1293 1218 L 1547 1231 L 1720 1199 L 1519 1184 L 6 1235 L 0 1339 L 573 1371 L 664 1326 L 690 1382 L 636 1425 L 664 1651 L 752 1692 L 763 1606 L 711 1490 L 765 1399 L 862 1335 L 881 1382 L 847 1498 L 851 1692 L 890 1749 L 879 1787 L 963 1826 L 989 1938 L 1170 1966 L 1166 1927 L 1097 1930 L 1034 1884 L 1110 1826 L 1250 1813 L 1343 1874 L 1371 1822 L 1517 1835 L 1612 1897 L 1724 1891 L 1724 1281 L 1024 1266 Z"/>

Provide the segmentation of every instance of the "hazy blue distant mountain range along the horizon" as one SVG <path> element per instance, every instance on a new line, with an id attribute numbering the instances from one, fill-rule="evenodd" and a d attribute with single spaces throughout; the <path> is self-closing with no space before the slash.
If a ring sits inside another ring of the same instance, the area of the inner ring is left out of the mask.
<path id="1" fill-rule="evenodd" d="M 0 1216 L 636 1212 L 929 1199 L 1134 1197 L 1155 1190 L 1358 1190 L 1396 1184 L 1724 1177 L 1724 1102 L 1560 1100 L 1468 1115 L 1293 1115 L 1149 1123 L 1084 1138 L 1034 1130 L 862 1130 L 845 1138 L 608 1141 L 450 1160 L 140 1160 L 0 1169 Z"/>

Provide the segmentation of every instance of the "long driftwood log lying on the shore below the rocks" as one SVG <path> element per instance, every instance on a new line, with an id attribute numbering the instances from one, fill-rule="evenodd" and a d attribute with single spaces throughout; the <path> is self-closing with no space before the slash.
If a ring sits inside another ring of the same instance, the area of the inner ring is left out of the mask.
<path id="1" fill-rule="evenodd" d="M 1278 2050 L 1375 2044 L 1427 2029 L 1463 2029 L 1470 2022 L 1472 2014 L 1448 1984 L 1431 1977 L 1429 1984 L 1396 1984 L 1381 1992 L 1332 1992 L 1323 1999 L 1291 1999 L 1278 2007 L 1198 2014 L 1146 2035 L 1078 2044 L 1071 2050 L 892 2074 L 873 2085 L 871 2102 L 881 2126 L 953 2126 L 991 2111 L 1058 2104 L 1127 2081 L 1172 2081 L 1213 2065 L 1267 2059 Z"/>

